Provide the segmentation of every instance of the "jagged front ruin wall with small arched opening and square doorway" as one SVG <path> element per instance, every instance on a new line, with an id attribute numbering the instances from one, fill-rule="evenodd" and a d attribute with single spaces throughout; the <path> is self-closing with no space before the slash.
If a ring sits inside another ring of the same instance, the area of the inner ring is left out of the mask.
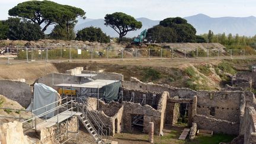
<path id="1" fill-rule="evenodd" d="M 160 135 L 165 123 L 167 97 L 168 92 L 162 92 L 156 106 L 157 110 L 148 104 L 140 105 L 127 101 L 122 103 L 111 102 L 109 104 L 100 101 L 97 106 L 96 98 L 88 98 L 88 103 L 93 105 L 90 111 L 97 113 L 103 123 L 110 127 L 112 135 L 120 132 L 132 132 L 131 117 L 136 114 L 143 115 L 143 132 L 148 132 L 148 124 L 153 121 L 154 132 L 156 135 Z"/>

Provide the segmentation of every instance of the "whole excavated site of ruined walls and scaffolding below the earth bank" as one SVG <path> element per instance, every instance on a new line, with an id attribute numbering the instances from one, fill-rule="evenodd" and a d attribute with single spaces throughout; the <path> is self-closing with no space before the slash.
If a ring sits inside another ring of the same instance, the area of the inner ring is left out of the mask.
<path id="1" fill-rule="evenodd" d="M 65 65 L 47 64 L 34 81 L 1 78 L 1 144 L 256 143 L 255 66 L 209 91 Z"/>

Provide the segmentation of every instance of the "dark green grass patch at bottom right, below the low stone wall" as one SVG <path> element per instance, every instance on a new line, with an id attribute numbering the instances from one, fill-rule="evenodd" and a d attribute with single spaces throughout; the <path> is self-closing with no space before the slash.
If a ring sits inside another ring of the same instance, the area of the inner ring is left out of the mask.
<path id="1" fill-rule="evenodd" d="M 236 136 L 225 135 L 221 133 L 213 134 L 212 137 L 196 136 L 193 142 L 187 142 L 187 144 L 219 144 L 220 142 L 231 142 Z"/>

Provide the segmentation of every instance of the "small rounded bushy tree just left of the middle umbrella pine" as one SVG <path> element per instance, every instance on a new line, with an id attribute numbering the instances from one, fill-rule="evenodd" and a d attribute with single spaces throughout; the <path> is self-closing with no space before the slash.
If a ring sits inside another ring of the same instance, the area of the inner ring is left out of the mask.
<path id="1" fill-rule="evenodd" d="M 109 43 L 110 37 L 103 33 L 101 28 L 87 27 L 82 30 L 79 30 L 78 33 L 76 33 L 76 40 L 88 40 L 98 41 L 100 43 Z"/>

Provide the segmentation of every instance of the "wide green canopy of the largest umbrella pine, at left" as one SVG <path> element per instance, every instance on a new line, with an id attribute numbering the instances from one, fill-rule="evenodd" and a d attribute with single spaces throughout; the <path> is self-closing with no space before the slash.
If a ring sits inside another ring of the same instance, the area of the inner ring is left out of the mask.
<path id="1" fill-rule="evenodd" d="M 25 18 L 39 25 L 43 25 L 42 31 L 51 24 L 70 25 L 75 23 L 76 17 L 84 17 L 84 10 L 69 5 L 61 5 L 52 1 L 26 1 L 9 9 L 9 15 Z M 69 31 L 69 27 L 66 27 Z"/>

